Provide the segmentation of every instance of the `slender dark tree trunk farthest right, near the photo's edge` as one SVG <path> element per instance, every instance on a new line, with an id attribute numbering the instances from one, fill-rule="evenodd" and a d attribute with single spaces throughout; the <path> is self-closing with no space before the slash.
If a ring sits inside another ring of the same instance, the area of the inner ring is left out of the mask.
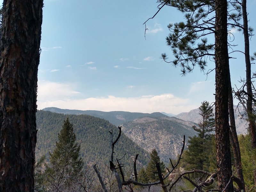
<path id="1" fill-rule="evenodd" d="M 252 81 L 251 81 L 251 61 L 250 61 L 250 46 L 249 46 L 249 33 L 248 33 L 248 18 L 246 11 L 246 0 L 242 0 L 242 12 L 243 12 L 243 21 L 244 21 L 244 56 L 245 56 L 245 66 L 246 66 L 246 89 L 247 89 L 247 114 L 249 119 L 249 131 L 251 135 L 251 145 L 252 148 L 256 148 L 256 129 L 255 122 L 250 118 L 252 115 Z M 253 161 L 253 164 L 256 164 Z M 256 186 L 256 170 L 254 172 L 254 183 Z M 256 189 L 255 189 L 256 190 Z"/>

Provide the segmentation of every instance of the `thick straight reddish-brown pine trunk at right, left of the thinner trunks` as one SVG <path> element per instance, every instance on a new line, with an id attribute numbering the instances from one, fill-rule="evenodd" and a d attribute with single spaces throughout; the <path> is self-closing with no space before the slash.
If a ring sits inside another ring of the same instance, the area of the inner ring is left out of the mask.
<path id="1" fill-rule="evenodd" d="M 231 155 L 229 147 L 228 122 L 228 40 L 227 40 L 227 1 L 215 1 L 215 65 L 216 65 L 216 149 L 217 177 L 219 189 L 233 192 Z"/>

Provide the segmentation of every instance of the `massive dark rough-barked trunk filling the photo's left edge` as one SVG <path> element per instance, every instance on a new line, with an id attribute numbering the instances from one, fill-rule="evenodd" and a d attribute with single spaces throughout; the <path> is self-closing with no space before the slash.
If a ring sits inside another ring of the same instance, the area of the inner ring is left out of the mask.
<path id="1" fill-rule="evenodd" d="M 4 0 L 0 45 L 0 191 L 34 191 L 43 0 Z"/>

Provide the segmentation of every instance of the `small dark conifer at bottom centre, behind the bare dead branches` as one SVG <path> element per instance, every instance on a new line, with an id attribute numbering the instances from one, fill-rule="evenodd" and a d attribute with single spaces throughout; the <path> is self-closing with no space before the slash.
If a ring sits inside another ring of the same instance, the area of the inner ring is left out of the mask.
<path id="1" fill-rule="evenodd" d="M 154 182 L 154 181 L 159 180 L 158 174 L 157 174 L 157 169 L 156 169 L 156 164 L 160 163 L 160 157 L 158 156 L 156 149 L 152 150 L 152 152 L 150 153 L 150 157 L 151 157 L 150 161 L 146 168 L 146 174 L 147 174 L 148 180 L 151 182 Z M 165 169 L 165 165 L 164 165 L 163 161 L 160 163 L 160 168 L 161 168 L 161 172 L 163 173 L 164 169 Z"/>

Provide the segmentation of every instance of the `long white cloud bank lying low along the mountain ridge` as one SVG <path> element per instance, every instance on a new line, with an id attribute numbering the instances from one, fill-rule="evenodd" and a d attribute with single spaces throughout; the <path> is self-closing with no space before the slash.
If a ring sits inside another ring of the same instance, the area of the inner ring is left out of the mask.
<path id="1" fill-rule="evenodd" d="M 59 94 L 59 97 L 52 100 L 49 97 L 51 97 L 52 92 L 56 93 L 54 90 L 56 86 L 53 86 L 52 88 L 50 87 L 50 91 L 46 89 L 47 86 L 52 86 L 52 84 L 45 85 L 44 88 L 41 86 L 41 84 L 38 85 L 38 109 L 45 107 L 58 107 L 78 110 L 130 111 L 142 113 L 164 111 L 166 113 L 178 114 L 198 108 L 198 106 L 191 100 L 175 97 L 171 93 L 129 98 L 115 97 L 110 95 L 108 97 L 86 98 L 79 100 L 63 99 L 62 93 L 68 96 L 72 95 L 72 89 L 70 86 L 62 86 L 62 91 L 58 89 L 57 93 Z M 61 86 L 59 86 L 59 88 L 61 88 Z M 67 89 L 68 94 L 66 93 Z M 42 93 L 44 95 L 41 95 Z"/>

